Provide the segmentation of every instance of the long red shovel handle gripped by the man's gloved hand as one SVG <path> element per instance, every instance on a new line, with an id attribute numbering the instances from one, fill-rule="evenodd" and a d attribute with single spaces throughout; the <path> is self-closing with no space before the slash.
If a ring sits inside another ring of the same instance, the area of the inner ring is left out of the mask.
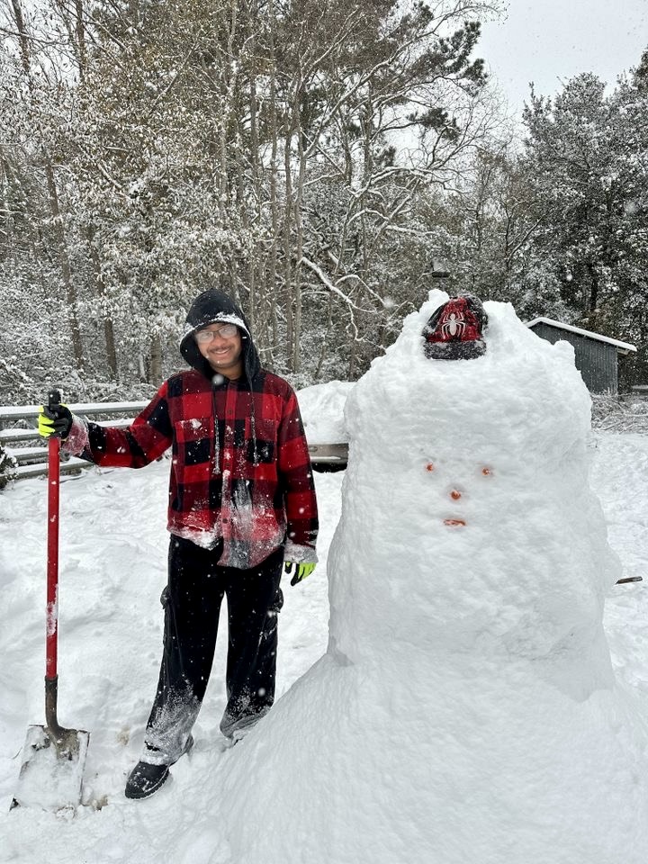
<path id="1" fill-rule="evenodd" d="M 49 406 L 60 402 L 49 394 Z M 47 629 L 45 640 L 45 678 L 57 676 L 58 659 L 58 489 L 59 489 L 59 450 L 60 439 L 50 436 L 48 441 L 48 590 L 47 590 Z"/>

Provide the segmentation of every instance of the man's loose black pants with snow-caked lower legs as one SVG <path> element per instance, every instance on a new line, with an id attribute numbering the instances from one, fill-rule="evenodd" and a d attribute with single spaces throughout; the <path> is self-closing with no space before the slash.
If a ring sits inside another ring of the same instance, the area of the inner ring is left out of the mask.
<path id="1" fill-rule="evenodd" d="M 202 549 L 172 536 L 165 607 L 164 653 L 148 718 L 146 761 L 172 764 L 181 756 L 211 673 L 220 604 L 228 604 L 228 703 L 220 730 L 231 736 L 266 714 L 275 700 L 277 614 L 284 550 L 251 570 L 220 567 L 220 545 Z"/>

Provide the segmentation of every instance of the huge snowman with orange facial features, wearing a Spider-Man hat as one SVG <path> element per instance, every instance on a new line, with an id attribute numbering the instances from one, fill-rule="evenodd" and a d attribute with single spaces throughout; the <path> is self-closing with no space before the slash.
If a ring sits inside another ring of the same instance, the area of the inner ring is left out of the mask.
<path id="1" fill-rule="evenodd" d="M 329 649 L 232 752 L 232 860 L 644 862 L 572 347 L 432 292 L 345 419 Z"/>

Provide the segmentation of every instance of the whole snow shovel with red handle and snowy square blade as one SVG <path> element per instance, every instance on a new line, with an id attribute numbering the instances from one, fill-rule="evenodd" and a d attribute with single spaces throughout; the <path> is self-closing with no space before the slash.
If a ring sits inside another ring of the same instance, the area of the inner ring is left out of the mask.
<path id="1" fill-rule="evenodd" d="M 49 408 L 60 404 L 60 393 L 49 393 Z M 58 725 L 58 488 L 57 436 L 48 441 L 48 558 L 45 635 L 45 725 L 29 726 L 23 746 L 18 790 L 11 807 L 37 806 L 60 810 L 81 803 L 81 785 L 90 735 Z"/>

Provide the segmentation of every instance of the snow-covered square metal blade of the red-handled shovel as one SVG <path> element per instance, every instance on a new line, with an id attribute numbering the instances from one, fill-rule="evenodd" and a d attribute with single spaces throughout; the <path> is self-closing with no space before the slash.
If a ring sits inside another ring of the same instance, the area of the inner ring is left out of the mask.
<path id="1" fill-rule="evenodd" d="M 90 735 L 61 729 L 56 740 L 45 726 L 28 726 L 23 765 L 12 801 L 17 806 L 61 810 L 81 803 L 83 770 Z"/>

